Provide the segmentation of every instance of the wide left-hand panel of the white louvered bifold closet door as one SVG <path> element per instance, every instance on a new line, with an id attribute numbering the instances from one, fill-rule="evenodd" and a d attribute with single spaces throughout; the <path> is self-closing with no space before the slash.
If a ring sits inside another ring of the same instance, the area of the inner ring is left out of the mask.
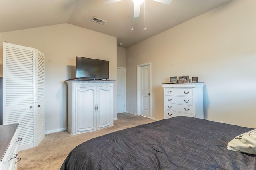
<path id="1" fill-rule="evenodd" d="M 33 48 L 4 43 L 3 124 L 19 123 L 20 148 L 34 142 Z M 22 149 L 23 150 L 23 149 Z"/>

